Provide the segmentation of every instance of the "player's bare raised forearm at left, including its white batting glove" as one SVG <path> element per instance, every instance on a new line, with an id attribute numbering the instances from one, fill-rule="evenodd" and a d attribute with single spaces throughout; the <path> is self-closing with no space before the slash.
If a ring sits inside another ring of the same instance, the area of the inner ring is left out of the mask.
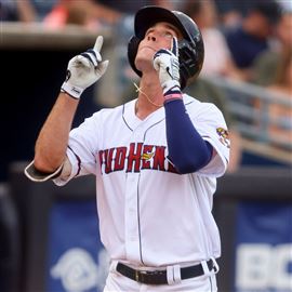
<path id="1" fill-rule="evenodd" d="M 42 173 L 54 173 L 66 158 L 69 132 L 82 92 L 106 71 L 108 61 L 102 62 L 103 37 L 93 49 L 69 61 L 67 77 L 57 101 L 38 136 L 34 167 Z"/>

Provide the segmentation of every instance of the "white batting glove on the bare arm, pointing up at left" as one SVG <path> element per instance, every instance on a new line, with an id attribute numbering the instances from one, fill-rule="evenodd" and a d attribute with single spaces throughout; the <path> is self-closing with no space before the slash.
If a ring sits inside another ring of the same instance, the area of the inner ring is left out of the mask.
<path id="1" fill-rule="evenodd" d="M 93 49 L 72 57 L 68 63 L 66 80 L 61 91 L 74 98 L 79 98 L 82 92 L 96 82 L 106 71 L 108 61 L 102 62 L 99 54 L 104 38 L 96 38 Z"/>

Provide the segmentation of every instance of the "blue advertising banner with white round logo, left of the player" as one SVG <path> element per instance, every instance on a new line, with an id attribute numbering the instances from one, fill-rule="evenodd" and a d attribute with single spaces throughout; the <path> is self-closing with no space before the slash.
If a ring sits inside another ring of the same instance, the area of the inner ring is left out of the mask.
<path id="1" fill-rule="evenodd" d="M 56 202 L 48 240 L 48 292 L 103 291 L 109 261 L 99 241 L 95 200 Z"/>

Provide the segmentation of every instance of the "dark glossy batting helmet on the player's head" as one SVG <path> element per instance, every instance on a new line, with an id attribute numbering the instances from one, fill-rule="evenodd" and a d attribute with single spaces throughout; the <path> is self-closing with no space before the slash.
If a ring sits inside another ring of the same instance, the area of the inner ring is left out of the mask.
<path id="1" fill-rule="evenodd" d="M 133 70 L 142 77 L 135 66 L 135 57 L 138 44 L 147 29 L 158 22 L 167 22 L 174 25 L 183 35 L 178 40 L 178 61 L 181 88 L 184 89 L 188 79 L 198 76 L 202 68 L 204 49 L 202 35 L 196 23 L 180 11 L 170 11 L 160 6 L 144 6 L 137 11 L 134 21 L 134 36 L 128 44 L 128 58 Z"/>

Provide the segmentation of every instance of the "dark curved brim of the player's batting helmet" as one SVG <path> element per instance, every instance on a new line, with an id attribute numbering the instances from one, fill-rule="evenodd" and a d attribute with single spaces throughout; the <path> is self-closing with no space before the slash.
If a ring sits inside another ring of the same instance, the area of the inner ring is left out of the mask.
<path id="1" fill-rule="evenodd" d="M 145 6 L 137 11 L 134 21 L 135 36 L 142 40 L 147 29 L 160 22 L 172 24 L 188 39 L 188 34 L 181 21 L 171 11 L 160 6 Z"/>

